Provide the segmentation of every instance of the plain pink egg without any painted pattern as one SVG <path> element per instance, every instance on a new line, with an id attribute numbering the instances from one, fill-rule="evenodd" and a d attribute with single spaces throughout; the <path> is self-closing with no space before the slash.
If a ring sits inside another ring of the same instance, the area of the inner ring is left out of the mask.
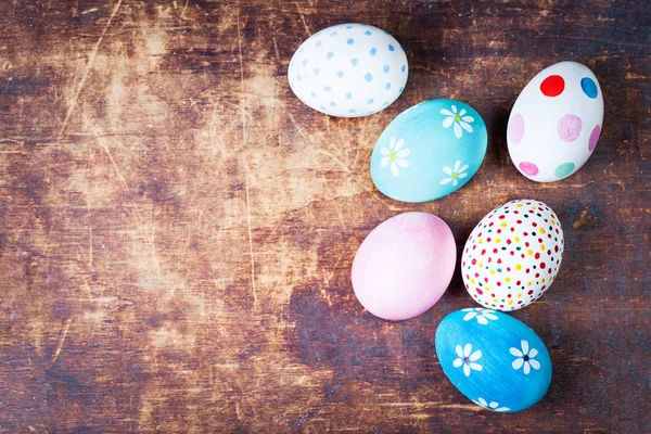
<path id="1" fill-rule="evenodd" d="M 445 221 L 426 213 L 399 214 L 373 229 L 357 250 L 353 289 L 380 318 L 413 318 L 438 302 L 456 261 L 455 238 Z"/>

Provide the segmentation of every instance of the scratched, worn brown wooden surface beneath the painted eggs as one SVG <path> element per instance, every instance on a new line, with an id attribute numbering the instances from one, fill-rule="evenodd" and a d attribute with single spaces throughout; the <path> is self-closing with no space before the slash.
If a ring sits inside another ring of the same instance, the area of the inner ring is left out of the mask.
<path id="1" fill-rule="evenodd" d="M 302 40 L 362 22 L 405 47 L 380 114 L 311 111 Z M 560 60 L 600 80 L 600 143 L 571 178 L 506 149 L 524 85 Z M 0 432 L 651 432 L 651 3 L 4 0 L 0 4 Z M 473 105 L 486 159 L 425 204 L 379 193 L 375 139 L 434 98 Z M 457 275 L 403 322 L 357 303 L 363 238 L 406 210 L 460 247 L 488 210 L 544 201 L 565 230 L 551 290 L 514 316 L 551 388 L 514 414 L 447 381 L 433 335 Z"/>

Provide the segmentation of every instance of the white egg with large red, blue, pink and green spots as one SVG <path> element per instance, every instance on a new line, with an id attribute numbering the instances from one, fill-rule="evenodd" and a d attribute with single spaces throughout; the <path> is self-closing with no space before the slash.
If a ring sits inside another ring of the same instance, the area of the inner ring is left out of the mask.
<path id="1" fill-rule="evenodd" d="M 507 143 L 518 170 L 552 182 L 578 170 L 595 151 L 603 95 L 592 72 L 576 62 L 542 69 L 522 90 L 509 117 Z"/>

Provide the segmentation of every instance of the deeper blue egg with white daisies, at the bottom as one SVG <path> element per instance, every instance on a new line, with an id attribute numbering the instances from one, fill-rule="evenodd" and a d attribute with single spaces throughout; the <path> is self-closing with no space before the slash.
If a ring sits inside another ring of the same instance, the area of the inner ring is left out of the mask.
<path id="1" fill-rule="evenodd" d="M 551 358 L 545 343 L 500 311 L 471 307 L 448 315 L 438 324 L 435 346 L 447 378 L 488 410 L 524 410 L 549 390 Z"/>

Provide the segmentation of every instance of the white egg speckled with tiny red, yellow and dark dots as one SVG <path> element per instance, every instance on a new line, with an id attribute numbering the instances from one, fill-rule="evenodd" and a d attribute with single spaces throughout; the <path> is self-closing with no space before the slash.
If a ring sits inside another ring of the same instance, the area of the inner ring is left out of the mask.
<path id="1" fill-rule="evenodd" d="M 465 242 L 465 289 L 492 309 L 528 306 L 556 279 L 563 245 L 563 229 L 549 206 L 524 199 L 507 202 L 488 213 Z"/>

